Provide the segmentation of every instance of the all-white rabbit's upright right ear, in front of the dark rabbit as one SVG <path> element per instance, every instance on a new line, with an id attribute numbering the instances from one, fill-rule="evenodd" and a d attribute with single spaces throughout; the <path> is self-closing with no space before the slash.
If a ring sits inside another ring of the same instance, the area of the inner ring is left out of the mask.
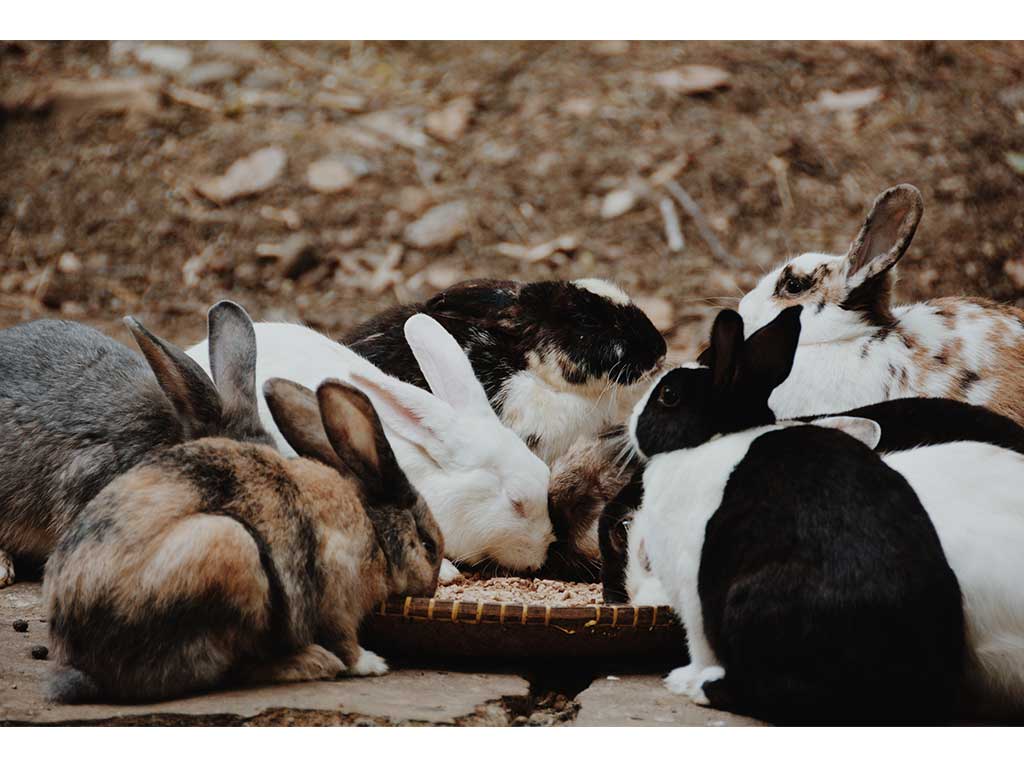
<path id="1" fill-rule="evenodd" d="M 435 395 L 457 411 L 494 414 L 469 358 L 440 323 L 414 314 L 406 321 L 406 342 Z"/>

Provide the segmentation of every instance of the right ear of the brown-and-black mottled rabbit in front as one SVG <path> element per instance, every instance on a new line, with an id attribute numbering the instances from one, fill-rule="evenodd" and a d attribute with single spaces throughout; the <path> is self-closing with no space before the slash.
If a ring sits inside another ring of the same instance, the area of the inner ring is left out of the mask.
<path id="1" fill-rule="evenodd" d="M 328 379 L 316 389 L 324 430 L 334 453 L 371 499 L 409 487 L 373 403 L 355 387 Z"/>

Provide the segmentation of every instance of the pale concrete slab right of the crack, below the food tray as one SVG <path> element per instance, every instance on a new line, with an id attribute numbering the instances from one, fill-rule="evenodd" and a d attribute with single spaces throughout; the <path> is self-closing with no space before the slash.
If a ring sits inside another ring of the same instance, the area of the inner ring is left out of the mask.
<path id="1" fill-rule="evenodd" d="M 577 726 L 764 725 L 751 718 L 697 707 L 672 693 L 658 675 L 602 677 L 577 696 Z"/>

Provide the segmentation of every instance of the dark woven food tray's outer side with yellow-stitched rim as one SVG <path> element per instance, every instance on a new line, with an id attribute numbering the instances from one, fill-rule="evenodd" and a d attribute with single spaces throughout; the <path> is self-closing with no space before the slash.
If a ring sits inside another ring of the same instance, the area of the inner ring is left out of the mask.
<path id="1" fill-rule="evenodd" d="M 682 657 L 685 635 L 666 605 L 544 605 L 397 597 L 364 627 L 385 656 Z"/>

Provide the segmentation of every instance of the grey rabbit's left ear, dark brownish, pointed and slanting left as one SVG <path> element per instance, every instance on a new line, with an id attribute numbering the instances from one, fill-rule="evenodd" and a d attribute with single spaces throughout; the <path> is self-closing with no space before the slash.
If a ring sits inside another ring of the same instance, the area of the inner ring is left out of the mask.
<path id="1" fill-rule="evenodd" d="M 190 434 L 203 434 L 219 424 L 223 414 L 220 395 L 199 364 L 173 344 L 150 333 L 134 317 L 125 317 L 124 323 L 185 430 Z"/>

